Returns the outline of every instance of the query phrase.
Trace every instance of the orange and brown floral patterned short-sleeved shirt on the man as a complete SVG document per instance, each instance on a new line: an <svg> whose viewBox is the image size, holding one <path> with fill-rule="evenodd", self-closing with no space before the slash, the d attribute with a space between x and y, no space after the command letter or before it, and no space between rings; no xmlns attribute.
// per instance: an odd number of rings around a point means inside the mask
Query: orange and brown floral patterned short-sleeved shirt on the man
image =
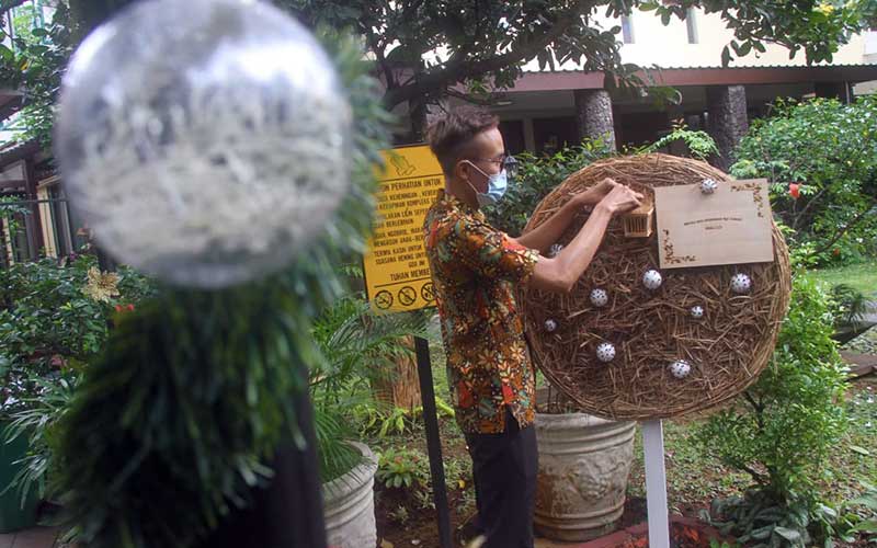
<svg viewBox="0 0 877 548"><path fill-rule="evenodd" d="M535 372L515 292L539 253L444 192L423 230L457 423L466 433L501 433L508 407L522 429L532 424Z"/></svg>

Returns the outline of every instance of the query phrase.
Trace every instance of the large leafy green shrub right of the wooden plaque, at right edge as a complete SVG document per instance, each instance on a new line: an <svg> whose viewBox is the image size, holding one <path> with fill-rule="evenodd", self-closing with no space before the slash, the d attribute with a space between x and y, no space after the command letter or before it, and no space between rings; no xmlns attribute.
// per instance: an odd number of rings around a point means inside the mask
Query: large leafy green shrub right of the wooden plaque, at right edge
<svg viewBox="0 0 877 548"><path fill-rule="evenodd" d="M848 105L777 102L771 117L752 123L737 158L731 174L768 179L790 243L812 263L850 263L877 252L877 96Z"/></svg>

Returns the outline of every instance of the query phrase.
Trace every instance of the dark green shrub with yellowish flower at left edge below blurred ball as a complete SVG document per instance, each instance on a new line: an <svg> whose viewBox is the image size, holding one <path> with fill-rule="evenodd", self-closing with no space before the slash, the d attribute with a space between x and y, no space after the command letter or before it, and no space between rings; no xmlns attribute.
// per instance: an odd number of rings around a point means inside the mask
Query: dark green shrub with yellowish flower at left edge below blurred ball
<svg viewBox="0 0 877 548"><path fill-rule="evenodd" d="M33 404L36 379L81 369L102 350L114 318L152 292L127 267L102 275L93 255L0 269L0 416Z"/></svg>

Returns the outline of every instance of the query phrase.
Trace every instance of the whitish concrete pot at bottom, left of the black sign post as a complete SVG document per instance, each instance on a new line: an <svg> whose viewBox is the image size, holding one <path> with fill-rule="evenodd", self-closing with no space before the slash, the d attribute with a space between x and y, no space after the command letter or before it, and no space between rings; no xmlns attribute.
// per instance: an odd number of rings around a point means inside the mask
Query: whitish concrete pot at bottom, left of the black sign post
<svg viewBox="0 0 877 548"><path fill-rule="evenodd" d="M377 545L375 526L375 472L377 458L372 450L351 442L364 461L344 476L322 484L326 537L332 548L362 548Z"/></svg>

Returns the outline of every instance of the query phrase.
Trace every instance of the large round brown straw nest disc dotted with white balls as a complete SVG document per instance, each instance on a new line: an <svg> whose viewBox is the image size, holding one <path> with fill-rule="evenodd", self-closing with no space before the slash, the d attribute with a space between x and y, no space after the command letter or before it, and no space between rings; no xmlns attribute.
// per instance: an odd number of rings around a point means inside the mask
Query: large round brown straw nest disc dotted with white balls
<svg viewBox="0 0 877 548"><path fill-rule="evenodd" d="M604 178L648 193L657 186L719 184L731 178L707 163L667 155L618 157L570 175L543 199L524 229L532 230L571 195ZM559 243L567 244L586 220L578 217ZM619 218L608 227L596 256L568 295L531 289L523 296L533 357L546 378L584 412L611 419L660 419L703 411L740 393L766 366L788 306L788 250L774 225L774 262L696 269L659 269L657 233L625 238ZM717 242L718 243L718 242ZM658 290L642 274L659 270ZM731 292L731 277L745 273L749 294ZM591 290L610 302L596 308ZM706 313L696 320L695 305ZM546 329L554 320L555 331ZM615 359L602 363L596 346L611 342ZM685 359L691 374L675 378L670 364Z"/></svg>

